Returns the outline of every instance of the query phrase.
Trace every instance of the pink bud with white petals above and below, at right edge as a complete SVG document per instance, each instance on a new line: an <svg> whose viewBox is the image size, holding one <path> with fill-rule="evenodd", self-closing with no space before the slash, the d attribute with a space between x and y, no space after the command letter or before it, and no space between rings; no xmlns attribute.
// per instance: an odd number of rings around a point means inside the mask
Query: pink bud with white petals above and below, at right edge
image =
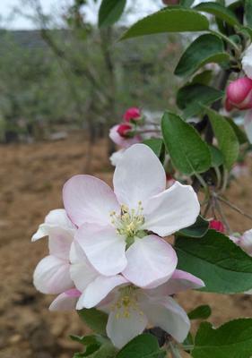
<svg viewBox="0 0 252 358"><path fill-rule="evenodd" d="M252 142L252 45L245 51L241 63L246 76L230 82L227 88L225 107L228 112L234 108L248 110L244 119L244 127L248 140Z"/></svg>

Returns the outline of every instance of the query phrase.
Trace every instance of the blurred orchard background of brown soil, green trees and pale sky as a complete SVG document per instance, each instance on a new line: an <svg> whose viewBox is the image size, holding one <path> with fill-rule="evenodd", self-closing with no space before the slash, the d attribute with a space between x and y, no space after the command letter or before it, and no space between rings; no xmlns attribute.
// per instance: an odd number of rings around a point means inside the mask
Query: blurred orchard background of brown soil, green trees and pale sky
<svg viewBox="0 0 252 358"><path fill-rule="evenodd" d="M30 243L72 175L110 183L109 128L127 107L153 118L176 106L173 74L192 35L159 35L118 42L126 27L161 8L161 0L129 1L113 28L98 29L100 1L1 0L0 3L0 357L67 358L78 350L70 333L85 328L73 313L48 311L50 297L32 286L47 239ZM249 163L245 164L248 173ZM252 184L241 175L231 201L252 209ZM245 231L251 223L227 211ZM210 300L209 300L210 298ZM213 302L213 322L251 311L250 296L192 294L189 310ZM248 313L251 315L251 312Z"/></svg>

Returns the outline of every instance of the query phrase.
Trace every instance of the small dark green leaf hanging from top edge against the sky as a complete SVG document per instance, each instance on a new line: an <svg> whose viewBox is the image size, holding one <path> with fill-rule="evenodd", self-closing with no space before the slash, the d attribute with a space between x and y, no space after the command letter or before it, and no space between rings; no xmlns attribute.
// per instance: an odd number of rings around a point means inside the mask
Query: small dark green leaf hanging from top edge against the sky
<svg viewBox="0 0 252 358"><path fill-rule="evenodd" d="M99 27L113 25L121 17L126 0L102 0L99 10Z"/></svg>

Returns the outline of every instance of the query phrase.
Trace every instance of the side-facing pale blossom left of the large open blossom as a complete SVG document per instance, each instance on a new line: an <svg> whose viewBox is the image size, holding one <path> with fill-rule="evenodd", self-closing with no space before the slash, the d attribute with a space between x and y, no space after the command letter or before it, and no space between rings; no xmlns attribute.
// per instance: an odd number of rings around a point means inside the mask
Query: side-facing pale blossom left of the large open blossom
<svg viewBox="0 0 252 358"><path fill-rule="evenodd" d="M76 228L64 209L49 212L32 236L32 242L48 236L49 255L39 261L33 275L34 286L43 294L62 294L72 289L69 252Z"/></svg>

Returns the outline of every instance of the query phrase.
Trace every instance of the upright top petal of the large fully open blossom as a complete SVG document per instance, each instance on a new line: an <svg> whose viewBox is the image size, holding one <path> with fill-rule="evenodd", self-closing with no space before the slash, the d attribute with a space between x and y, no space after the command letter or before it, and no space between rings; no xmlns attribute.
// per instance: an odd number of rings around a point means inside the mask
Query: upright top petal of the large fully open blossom
<svg viewBox="0 0 252 358"><path fill-rule="evenodd" d="M121 204L131 209L138 202L162 192L166 185L166 175L159 158L144 144L135 144L126 149L123 158L116 166L114 188Z"/></svg>

